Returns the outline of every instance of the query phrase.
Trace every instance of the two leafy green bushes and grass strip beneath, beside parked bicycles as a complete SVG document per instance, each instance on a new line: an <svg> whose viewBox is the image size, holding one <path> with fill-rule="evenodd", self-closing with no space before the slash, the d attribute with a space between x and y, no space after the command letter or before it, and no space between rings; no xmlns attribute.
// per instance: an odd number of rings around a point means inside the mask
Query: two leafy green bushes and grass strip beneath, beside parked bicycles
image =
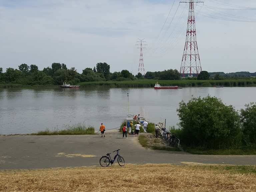
<svg viewBox="0 0 256 192"><path fill-rule="evenodd" d="M184 150L196 154L256 154L256 105L239 113L216 98L192 98L179 103L180 129L171 130Z"/></svg>

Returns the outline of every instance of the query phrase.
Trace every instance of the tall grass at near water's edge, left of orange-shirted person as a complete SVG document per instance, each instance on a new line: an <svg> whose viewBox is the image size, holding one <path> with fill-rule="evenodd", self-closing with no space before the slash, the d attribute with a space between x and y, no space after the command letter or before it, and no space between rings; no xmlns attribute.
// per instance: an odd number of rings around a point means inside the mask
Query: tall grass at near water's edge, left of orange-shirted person
<svg viewBox="0 0 256 192"><path fill-rule="evenodd" d="M56 129L53 130L46 129L45 131L39 131L32 135L93 135L95 134L94 127L86 127L80 123L75 125L66 125L65 129Z"/></svg>

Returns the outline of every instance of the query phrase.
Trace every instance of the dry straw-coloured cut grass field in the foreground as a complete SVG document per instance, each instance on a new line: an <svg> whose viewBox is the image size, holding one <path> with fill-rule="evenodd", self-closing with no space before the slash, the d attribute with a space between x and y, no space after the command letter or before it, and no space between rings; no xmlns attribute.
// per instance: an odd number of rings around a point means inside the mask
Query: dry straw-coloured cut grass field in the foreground
<svg viewBox="0 0 256 192"><path fill-rule="evenodd" d="M184 162L185 163L185 162ZM0 171L2 192L256 191L256 166L185 163Z"/></svg>

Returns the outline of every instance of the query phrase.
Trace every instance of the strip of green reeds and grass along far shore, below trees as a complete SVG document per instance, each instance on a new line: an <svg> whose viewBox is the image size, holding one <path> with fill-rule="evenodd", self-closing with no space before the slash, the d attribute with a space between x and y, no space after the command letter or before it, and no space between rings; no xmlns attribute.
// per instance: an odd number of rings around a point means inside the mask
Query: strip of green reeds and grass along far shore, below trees
<svg viewBox="0 0 256 192"><path fill-rule="evenodd" d="M105 86L111 88L136 88L154 87L158 82L162 86L179 87L212 87L214 85L225 87L256 87L256 79L225 79L225 80L149 80L141 79L134 81L97 81L81 82L80 87ZM22 84L0 84L0 88L27 88L27 87L58 87L58 85L22 85Z"/></svg>

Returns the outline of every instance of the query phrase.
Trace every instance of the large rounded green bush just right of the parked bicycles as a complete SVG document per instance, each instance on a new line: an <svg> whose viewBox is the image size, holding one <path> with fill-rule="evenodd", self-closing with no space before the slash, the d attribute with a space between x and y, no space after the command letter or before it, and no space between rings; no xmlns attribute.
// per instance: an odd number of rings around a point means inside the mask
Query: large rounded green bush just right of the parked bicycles
<svg viewBox="0 0 256 192"><path fill-rule="evenodd" d="M177 109L182 141L188 147L221 149L241 145L240 117L216 97L182 101Z"/></svg>

